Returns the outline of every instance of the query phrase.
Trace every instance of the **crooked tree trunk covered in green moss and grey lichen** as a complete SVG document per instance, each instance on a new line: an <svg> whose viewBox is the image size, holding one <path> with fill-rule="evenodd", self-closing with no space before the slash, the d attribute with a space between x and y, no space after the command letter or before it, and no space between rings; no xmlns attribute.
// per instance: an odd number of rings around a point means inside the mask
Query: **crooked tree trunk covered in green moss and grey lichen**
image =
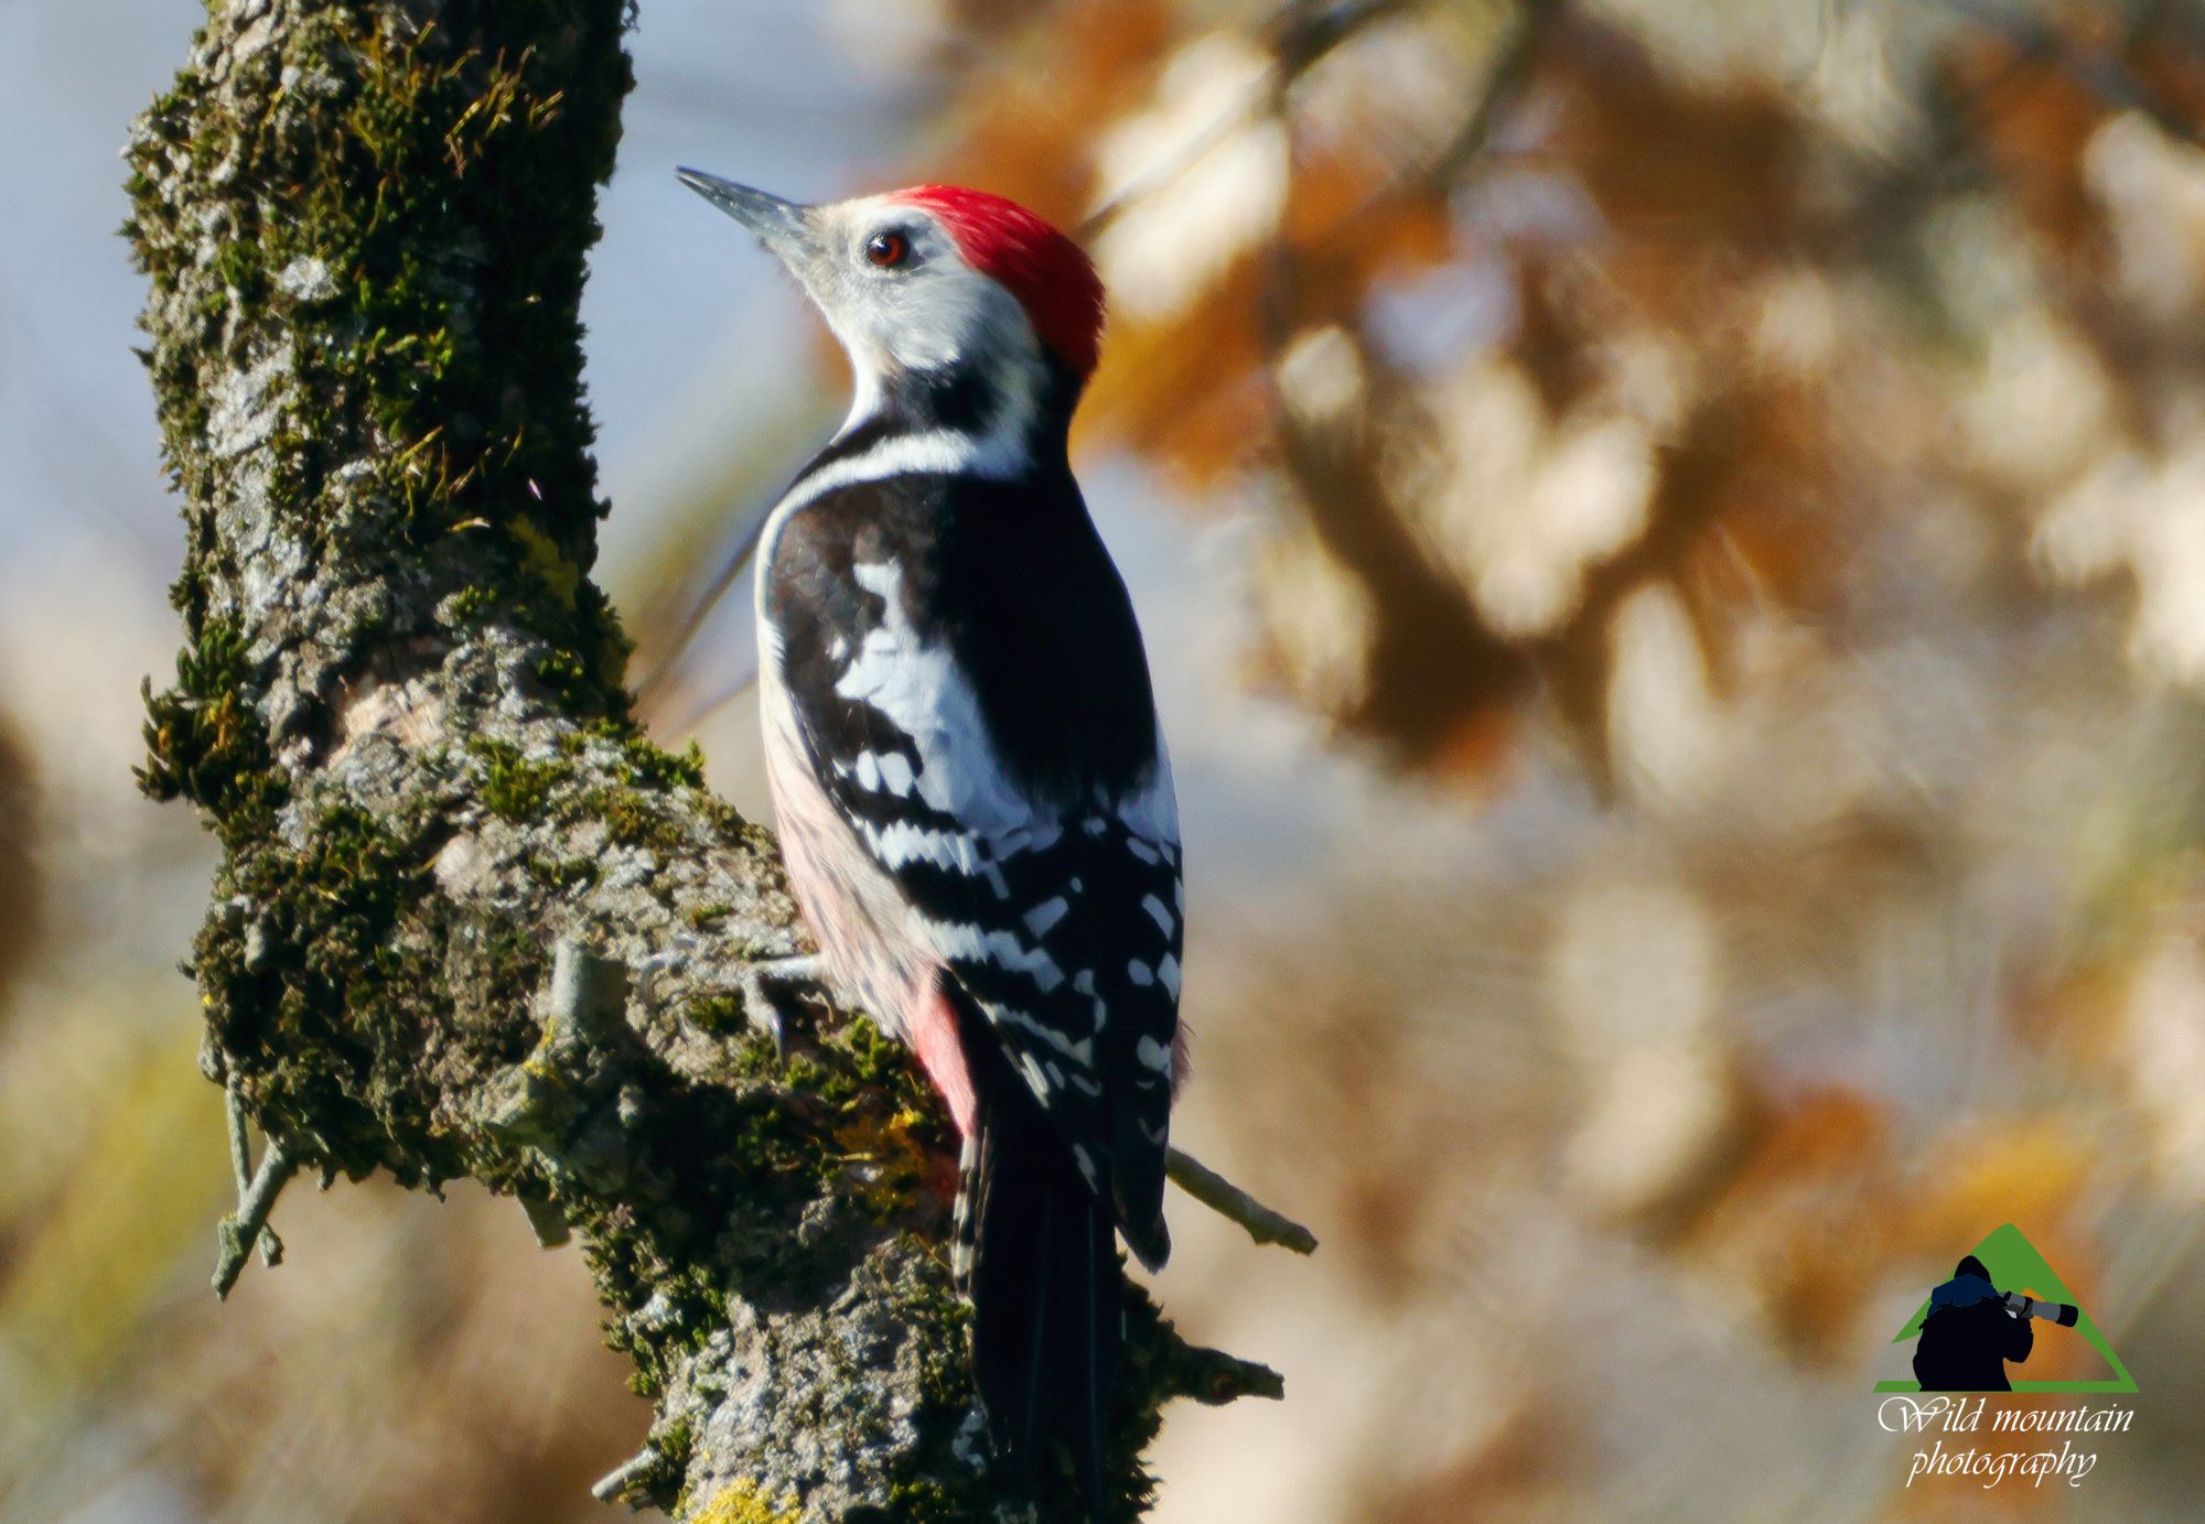
<svg viewBox="0 0 2205 1524"><path fill-rule="evenodd" d="M657 1398L631 1500L986 1517L942 1112L862 1017L745 1035L741 960L800 940L772 841L635 727L589 579L576 311L628 20L218 0L135 126L187 526L143 784L223 850L205 1068L324 1180L472 1176L582 1231ZM1116 1517L1166 1396L1274 1383L1129 1319Z"/></svg>

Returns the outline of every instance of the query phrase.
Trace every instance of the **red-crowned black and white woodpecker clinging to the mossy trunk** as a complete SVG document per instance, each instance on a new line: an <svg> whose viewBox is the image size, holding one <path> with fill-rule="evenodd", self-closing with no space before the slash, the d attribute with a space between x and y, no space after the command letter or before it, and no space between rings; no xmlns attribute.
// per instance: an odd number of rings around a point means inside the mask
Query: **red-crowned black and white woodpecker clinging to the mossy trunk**
<svg viewBox="0 0 2205 1524"><path fill-rule="evenodd" d="M1100 1520L1116 1240L1151 1271L1171 1253L1186 910L1149 661L1065 449L1102 282L986 192L798 205L679 174L856 374L759 535L781 848L827 976L964 1139L957 1273L1012 1487L1061 1443Z"/></svg>

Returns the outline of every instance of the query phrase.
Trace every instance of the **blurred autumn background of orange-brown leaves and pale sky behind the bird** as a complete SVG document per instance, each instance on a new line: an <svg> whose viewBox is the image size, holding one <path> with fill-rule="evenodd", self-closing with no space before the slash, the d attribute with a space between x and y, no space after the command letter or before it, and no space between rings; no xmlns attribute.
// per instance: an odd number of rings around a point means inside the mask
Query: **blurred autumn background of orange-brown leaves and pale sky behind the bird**
<svg viewBox="0 0 2205 1524"><path fill-rule="evenodd" d="M112 238L192 24L0 0L0 1517L613 1517L646 1412L512 1202L293 1191L207 1293ZM633 48L600 570L745 810L747 584L670 654L845 379L673 165L983 185L1114 291L1076 447L1180 773L1180 1136L1323 1238L1177 1202L1160 1295L1290 1398L1177 1409L1158 1520L2196 1517L2205 7L644 0ZM2009 1220L2134 1429L1910 1491L1870 1387Z"/></svg>

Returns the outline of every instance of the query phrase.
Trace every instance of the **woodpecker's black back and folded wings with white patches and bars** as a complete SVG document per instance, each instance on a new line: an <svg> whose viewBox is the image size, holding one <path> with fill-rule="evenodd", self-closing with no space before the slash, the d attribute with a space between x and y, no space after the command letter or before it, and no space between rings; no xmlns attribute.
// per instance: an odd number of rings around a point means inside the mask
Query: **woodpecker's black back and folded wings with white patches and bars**
<svg viewBox="0 0 2205 1524"><path fill-rule="evenodd" d="M1177 813L1069 471L822 493L763 601L811 766L1144 1262L1169 1249Z"/></svg>

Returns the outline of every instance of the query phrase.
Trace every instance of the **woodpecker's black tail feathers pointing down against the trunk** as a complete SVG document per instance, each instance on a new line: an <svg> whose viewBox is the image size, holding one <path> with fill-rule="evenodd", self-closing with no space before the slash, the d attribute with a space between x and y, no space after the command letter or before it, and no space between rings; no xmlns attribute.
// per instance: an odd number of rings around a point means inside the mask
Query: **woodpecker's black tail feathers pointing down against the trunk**
<svg viewBox="0 0 2205 1524"><path fill-rule="evenodd" d="M1023 1095L983 1106L968 1154L961 1255L972 1295L972 1374L1021 1500L1063 1445L1102 1524L1111 1392L1125 1295L1111 1209ZM966 1244L959 1244L966 1249Z"/></svg>

